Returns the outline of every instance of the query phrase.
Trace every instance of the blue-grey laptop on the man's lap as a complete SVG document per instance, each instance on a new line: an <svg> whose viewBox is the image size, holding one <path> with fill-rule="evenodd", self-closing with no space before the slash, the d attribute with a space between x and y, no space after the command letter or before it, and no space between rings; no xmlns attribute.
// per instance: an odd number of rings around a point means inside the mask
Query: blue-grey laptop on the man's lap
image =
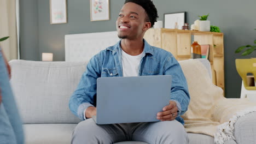
<svg viewBox="0 0 256 144"><path fill-rule="evenodd" d="M171 75L100 77L97 79L97 124L156 122L169 104Z"/></svg>

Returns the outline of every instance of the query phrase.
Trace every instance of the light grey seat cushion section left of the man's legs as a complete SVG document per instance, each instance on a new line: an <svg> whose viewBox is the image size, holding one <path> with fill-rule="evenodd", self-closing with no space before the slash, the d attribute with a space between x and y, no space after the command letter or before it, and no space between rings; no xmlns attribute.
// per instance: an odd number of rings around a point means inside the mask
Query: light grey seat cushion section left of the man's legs
<svg viewBox="0 0 256 144"><path fill-rule="evenodd" d="M24 124L26 144L69 144L77 124Z"/></svg>

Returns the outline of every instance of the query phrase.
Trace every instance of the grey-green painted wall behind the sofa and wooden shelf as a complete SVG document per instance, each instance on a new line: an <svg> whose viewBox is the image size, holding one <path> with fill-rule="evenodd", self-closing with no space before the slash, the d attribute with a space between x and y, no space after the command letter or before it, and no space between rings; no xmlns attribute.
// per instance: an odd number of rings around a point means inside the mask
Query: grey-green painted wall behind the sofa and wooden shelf
<svg viewBox="0 0 256 144"><path fill-rule="evenodd" d="M68 23L50 25L49 0L21 0L21 58L40 61L42 52L54 53L54 61L65 61L65 34L115 31L115 20L124 1L110 0L110 20L90 21L89 0L67 0ZM241 79L235 68L238 46L253 44L256 39L255 0L154 0L159 19L164 13L187 11L187 22L191 25L197 15L208 14L211 25L220 27L224 33L225 48L225 94L228 98L240 97ZM23 38L22 38L23 37ZM191 71L193 72L193 71Z"/></svg>

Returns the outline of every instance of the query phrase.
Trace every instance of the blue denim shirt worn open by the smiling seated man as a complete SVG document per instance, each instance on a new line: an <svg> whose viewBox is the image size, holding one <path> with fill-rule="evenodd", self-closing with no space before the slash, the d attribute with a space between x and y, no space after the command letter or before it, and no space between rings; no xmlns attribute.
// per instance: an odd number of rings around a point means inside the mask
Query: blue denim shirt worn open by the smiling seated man
<svg viewBox="0 0 256 144"><path fill-rule="evenodd" d="M190 96L181 66L170 52L143 41L143 57L138 75L172 75L170 100L179 105L179 116L176 120L184 124L180 116L188 110ZM120 44L121 40L90 59L77 89L69 100L69 109L81 120L84 120L84 110L88 106L96 107L97 78L123 76Z"/></svg>

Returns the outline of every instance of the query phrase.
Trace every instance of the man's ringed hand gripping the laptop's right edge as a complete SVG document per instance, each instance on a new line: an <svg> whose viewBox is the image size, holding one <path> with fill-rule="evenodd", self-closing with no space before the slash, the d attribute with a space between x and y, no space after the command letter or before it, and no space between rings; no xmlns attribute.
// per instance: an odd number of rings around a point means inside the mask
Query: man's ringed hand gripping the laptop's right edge
<svg viewBox="0 0 256 144"><path fill-rule="evenodd" d="M178 115L178 107L175 101L170 100L170 104L162 108L162 112L158 112L156 118L160 121L172 121Z"/></svg>

